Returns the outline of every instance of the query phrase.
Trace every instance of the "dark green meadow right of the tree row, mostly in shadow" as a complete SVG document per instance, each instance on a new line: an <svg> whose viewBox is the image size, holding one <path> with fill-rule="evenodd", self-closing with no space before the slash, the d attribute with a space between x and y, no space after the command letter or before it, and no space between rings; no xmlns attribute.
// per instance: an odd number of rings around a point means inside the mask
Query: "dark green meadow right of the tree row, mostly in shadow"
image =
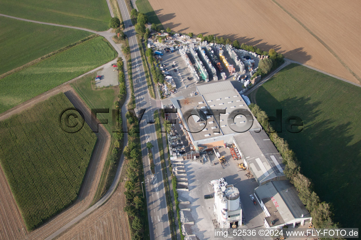
<svg viewBox="0 0 361 240"><path fill-rule="evenodd" d="M299 80L297 76L295 79L286 77L287 81L303 81L302 76ZM283 84L275 77L268 81L267 86ZM304 87L307 85L305 82ZM281 88L292 91L292 87L295 85L290 83ZM275 99L276 95L281 100ZM321 201L331 203L335 221L340 222L341 227L360 226L361 210L355 200L361 198L358 191L361 188L361 140L357 136L360 131L355 130L351 122L359 120L345 117L347 112L343 109L328 108L328 103L322 99L315 100L317 92L312 90L306 96L282 95L273 90L268 92L262 85L257 91L257 103L268 116L275 116L275 109L282 109L282 132L278 134L295 151L301 173L310 178ZM303 121L303 130L299 133L290 133L285 128L287 118L292 115ZM355 200L350 200L350 196Z"/></svg>

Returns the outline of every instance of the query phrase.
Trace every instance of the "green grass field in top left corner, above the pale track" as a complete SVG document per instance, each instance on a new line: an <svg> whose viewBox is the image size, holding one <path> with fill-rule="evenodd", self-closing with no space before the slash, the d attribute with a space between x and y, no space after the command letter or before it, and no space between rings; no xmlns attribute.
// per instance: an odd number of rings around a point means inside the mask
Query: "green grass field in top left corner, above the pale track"
<svg viewBox="0 0 361 240"><path fill-rule="evenodd" d="M95 31L107 30L111 18L106 0L2 0L0 9L0 13L14 17Z"/></svg>

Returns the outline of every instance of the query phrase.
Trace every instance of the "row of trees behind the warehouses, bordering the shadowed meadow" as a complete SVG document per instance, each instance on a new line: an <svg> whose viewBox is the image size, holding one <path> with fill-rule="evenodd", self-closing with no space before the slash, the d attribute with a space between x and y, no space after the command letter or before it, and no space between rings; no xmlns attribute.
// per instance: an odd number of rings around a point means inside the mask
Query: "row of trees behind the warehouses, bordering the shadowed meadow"
<svg viewBox="0 0 361 240"><path fill-rule="evenodd" d="M338 223L332 221L333 214L330 205L326 202L321 202L313 191L311 181L300 171L295 153L289 148L287 141L279 137L277 132L270 126L266 112L254 103L251 103L248 107L282 155L283 163L286 165L284 173L296 187L300 200L311 213L313 225L319 228L337 227Z"/></svg>

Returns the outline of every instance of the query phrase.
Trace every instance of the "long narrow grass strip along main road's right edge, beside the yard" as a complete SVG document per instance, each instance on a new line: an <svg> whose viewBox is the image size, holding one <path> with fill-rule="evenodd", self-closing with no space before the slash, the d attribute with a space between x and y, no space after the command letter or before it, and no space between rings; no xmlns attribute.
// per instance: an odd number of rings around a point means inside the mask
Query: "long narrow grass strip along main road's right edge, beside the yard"
<svg viewBox="0 0 361 240"><path fill-rule="evenodd" d="M163 182L164 182L164 190L165 190L164 192L165 192L165 199L167 202L170 235L171 235L171 239L173 240L173 239L176 239L173 204L172 204L172 199L171 199L171 195L170 195L167 168L166 168L165 159L164 159L164 149L163 149L163 140L162 140L162 132L161 132L162 128L161 128L161 124L160 124L158 110L156 110L154 112L153 117L154 117L154 124L155 124L155 128L156 128L160 163L161 163L162 173L163 173ZM169 165L171 165L171 164L169 163ZM173 191L174 191L174 187L173 187ZM177 188L175 188L175 191L177 192ZM174 198L175 198L175 195L174 195ZM175 198L175 200L177 200L177 198ZM180 218L178 218L178 219L180 219ZM182 229L182 228L179 228L179 229Z"/></svg>

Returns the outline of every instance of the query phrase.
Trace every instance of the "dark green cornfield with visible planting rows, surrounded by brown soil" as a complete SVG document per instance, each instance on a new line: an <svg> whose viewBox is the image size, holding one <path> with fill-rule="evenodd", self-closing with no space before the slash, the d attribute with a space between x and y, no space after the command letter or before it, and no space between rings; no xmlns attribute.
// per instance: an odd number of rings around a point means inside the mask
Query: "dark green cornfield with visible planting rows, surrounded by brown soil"
<svg viewBox="0 0 361 240"><path fill-rule="evenodd" d="M62 130L60 116L71 108L60 93L0 122L1 167L28 230L69 206L79 193L96 135L85 122L78 132ZM70 125L75 121L69 118Z"/></svg>

